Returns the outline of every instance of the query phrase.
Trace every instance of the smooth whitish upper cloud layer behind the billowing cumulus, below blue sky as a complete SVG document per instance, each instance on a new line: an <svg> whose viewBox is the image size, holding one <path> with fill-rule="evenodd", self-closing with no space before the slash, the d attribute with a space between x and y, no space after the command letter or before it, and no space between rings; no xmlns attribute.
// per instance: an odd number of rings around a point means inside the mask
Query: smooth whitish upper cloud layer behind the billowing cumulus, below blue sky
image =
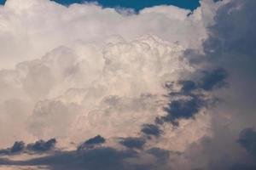
<svg viewBox="0 0 256 170"><path fill-rule="evenodd" d="M49 0L26 0L25 3L8 0L0 9L0 41L5 42L0 48L4 61L1 68L13 68L18 62L38 58L53 48L69 47L78 41L100 45L113 35L131 41L144 34L155 34L171 42L179 41L186 47L198 47L207 35L201 9L189 17L189 10L166 5L145 8L139 14L128 16L122 14L125 12L95 3L66 7Z"/></svg>

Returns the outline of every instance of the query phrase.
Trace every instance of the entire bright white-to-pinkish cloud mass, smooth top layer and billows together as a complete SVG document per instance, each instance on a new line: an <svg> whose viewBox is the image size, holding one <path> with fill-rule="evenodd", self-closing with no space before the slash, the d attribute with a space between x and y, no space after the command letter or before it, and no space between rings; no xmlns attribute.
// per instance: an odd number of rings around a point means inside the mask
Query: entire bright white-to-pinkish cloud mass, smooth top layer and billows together
<svg viewBox="0 0 256 170"><path fill-rule="evenodd" d="M164 83L194 71L183 51L201 49L217 8L205 1L193 14L172 6L127 14L94 3L8 0L0 8L0 136L8 136L0 146L137 135L165 114ZM200 134L182 131L191 139L177 150L201 138L207 123L192 122Z"/></svg>

